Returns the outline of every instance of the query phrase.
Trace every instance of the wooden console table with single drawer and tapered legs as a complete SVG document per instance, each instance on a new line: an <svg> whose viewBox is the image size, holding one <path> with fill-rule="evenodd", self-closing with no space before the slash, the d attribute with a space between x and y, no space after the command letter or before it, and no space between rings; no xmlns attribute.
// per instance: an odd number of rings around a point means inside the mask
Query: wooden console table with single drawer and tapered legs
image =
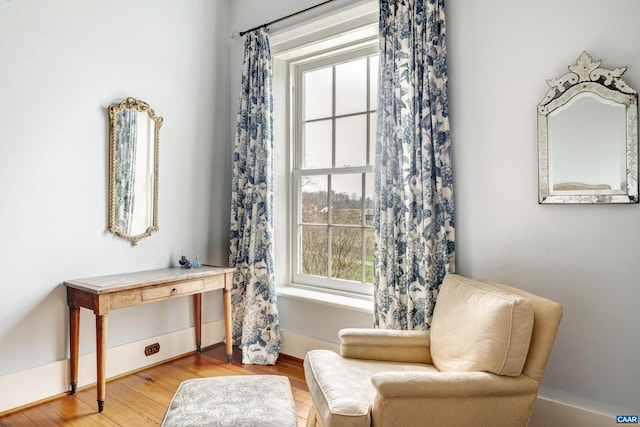
<svg viewBox="0 0 640 427"><path fill-rule="evenodd" d="M78 385L80 307L96 315L96 362L98 411L104 409L106 394L107 315L111 310L149 302L193 295L196 350L201 349L202 292L223 290L227 358L231 362L231 287L235 269L203 266L200 268L164 268L112 276L65 281L69 305L69 348L71 353L71 394Z"/></svg>

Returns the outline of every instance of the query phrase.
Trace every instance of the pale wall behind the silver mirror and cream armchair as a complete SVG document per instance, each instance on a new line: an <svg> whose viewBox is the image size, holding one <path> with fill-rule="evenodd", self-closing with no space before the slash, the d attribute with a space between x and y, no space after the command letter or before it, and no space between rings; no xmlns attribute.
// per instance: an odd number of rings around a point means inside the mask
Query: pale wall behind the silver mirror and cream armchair
<svg viewBox="0 0 640 427"><path fill-rule="evenodd" d="M536 106L582 51L640 89L634 0L447 0L457 270L561 302L541 394L640 411L640 206L537 204Z"/></svg>

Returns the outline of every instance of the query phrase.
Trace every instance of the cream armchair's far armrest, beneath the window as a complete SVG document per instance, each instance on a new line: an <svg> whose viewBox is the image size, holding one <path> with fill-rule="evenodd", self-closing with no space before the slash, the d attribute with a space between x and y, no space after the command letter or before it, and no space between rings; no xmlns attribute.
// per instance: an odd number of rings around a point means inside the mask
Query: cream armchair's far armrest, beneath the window
<svg viewBox="0 0 640 427"><path fill-rule="evenodd" d="M347 328L339 332L340 355L352 359L431 364L428 331Z"/></svg>

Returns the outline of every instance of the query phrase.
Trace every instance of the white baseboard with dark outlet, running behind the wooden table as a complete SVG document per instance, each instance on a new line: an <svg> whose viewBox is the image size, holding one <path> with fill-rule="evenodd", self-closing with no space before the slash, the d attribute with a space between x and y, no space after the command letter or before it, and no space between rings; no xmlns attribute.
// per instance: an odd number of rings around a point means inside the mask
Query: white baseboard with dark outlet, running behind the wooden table
<svg viewBox="0 0 640 427"><path fill-rule="evenodd" d="M224 341L224 321L202 325L202 346ZM160 344L160 352L144 355L144 348ZM194 351L194 328L182 329L165 335L147 338L107 349L107 379L145 366L154 365ZM82 348L80 349L82 352ZM81 354L78 360L78 387L96 382L96 353ZM69 391L69 360L0 376L0 414L33 402L48 399ZM107 396L109 386L107 385Z"/></svg>

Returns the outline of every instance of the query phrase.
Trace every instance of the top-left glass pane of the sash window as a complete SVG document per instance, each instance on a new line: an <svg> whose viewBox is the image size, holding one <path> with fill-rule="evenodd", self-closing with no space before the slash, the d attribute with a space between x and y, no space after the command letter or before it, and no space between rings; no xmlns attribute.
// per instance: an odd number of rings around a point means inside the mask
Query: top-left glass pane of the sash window
<svg viewBox="0 0 640 427"><path fill-rule="evenodd" d="M304 74L304 120L331 116L332 82L331 67Z"/></svg>

